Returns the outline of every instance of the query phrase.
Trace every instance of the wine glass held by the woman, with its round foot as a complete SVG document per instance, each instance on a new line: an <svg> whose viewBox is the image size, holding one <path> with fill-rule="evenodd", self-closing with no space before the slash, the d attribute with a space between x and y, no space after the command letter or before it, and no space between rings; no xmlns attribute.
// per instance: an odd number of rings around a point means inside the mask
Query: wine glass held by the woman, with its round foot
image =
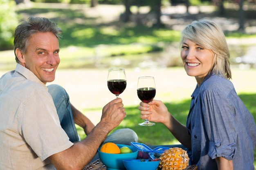
<svg viewBox="0 0 256 170"><path fill-rule="evenodd" d="M145 76L139 77L137 84L137 94L139 99L148 103L151 102L155 97L155 79L154 77ZM145 119L143 123L139 123L140 126L153 126L155 123L148 121L148 118Z"/></svg>

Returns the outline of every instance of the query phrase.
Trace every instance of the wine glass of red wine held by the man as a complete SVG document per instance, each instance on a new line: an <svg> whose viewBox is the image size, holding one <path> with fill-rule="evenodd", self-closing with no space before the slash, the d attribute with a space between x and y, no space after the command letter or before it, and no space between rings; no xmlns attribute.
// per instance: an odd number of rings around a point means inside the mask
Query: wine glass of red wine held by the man
<svg viewBox="0 0 256 170"><path fill-rule="evenodd" d="M124 68L108 69L108 89L111 93L118 96L123 93L126 88L126 74Z"/></svg>

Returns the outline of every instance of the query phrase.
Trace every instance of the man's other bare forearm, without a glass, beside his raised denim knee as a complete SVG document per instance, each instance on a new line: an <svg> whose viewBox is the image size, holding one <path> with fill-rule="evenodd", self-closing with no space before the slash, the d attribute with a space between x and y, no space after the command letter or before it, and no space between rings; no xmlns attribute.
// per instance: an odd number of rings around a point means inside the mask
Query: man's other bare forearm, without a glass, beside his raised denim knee
<svg viewBox="0 0 256 170"><path fill-rule="evenodd" d="M72 104L70 104L70 106L73 113L75 124L81 126L85 134L89 135L89 133L95 127L94 124L92 123L92 121L90 121L90 119L88 119L88 117L83 115L83 113L77 110Z"/></svg>

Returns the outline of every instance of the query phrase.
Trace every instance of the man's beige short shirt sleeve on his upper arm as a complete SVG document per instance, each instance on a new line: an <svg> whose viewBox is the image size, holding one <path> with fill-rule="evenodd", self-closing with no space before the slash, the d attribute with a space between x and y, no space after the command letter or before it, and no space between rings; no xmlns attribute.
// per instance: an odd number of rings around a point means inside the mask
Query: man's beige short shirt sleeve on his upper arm
<svg viewBox="0 0 256 170"><path fill-rule="evenodd" d="M21 107L23 112L19 118L20 133L42 161L73 145L61 128L49 93L40 91L23 102Z"/></svg>

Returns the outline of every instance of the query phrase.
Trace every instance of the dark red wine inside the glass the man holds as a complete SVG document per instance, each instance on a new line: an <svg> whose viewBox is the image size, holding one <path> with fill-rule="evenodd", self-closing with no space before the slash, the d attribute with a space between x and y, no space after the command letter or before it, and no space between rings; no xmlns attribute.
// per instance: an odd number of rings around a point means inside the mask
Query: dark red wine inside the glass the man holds
<svg viewBox="0 0 256 170"><path fill-rule="evenodd" d="M125 79L111 79L108 80L108 89L115 95L120 95L126 88Z"/></svg>

